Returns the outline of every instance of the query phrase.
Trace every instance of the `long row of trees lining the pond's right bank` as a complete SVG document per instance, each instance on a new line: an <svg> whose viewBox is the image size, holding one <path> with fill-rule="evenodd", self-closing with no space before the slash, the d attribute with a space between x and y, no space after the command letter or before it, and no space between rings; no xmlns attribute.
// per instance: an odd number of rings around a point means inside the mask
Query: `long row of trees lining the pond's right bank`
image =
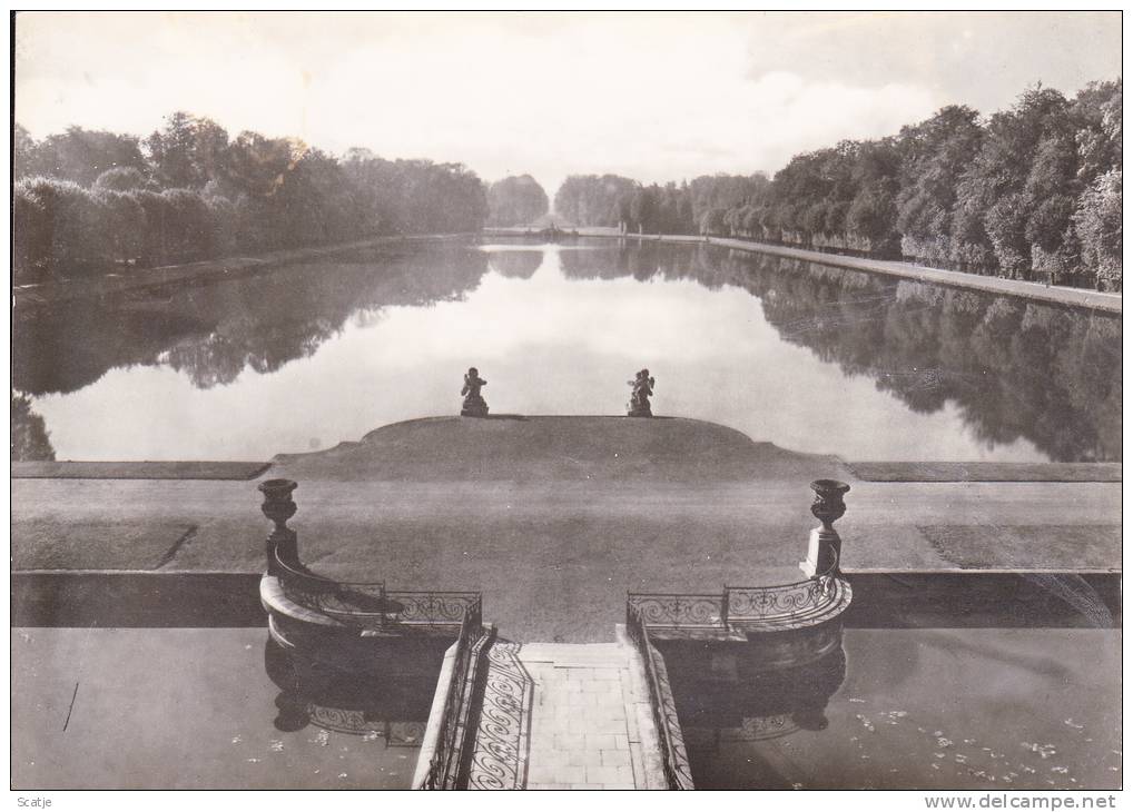
<svg viewBox="0 0 1133 812"><path fill-rule="evenodd" d="M1122 82L1073 99L1036 86L986 120L949 105L895 136L795 155L772 180L573 176L555 211L579 225L1121 290Z"/></svg>

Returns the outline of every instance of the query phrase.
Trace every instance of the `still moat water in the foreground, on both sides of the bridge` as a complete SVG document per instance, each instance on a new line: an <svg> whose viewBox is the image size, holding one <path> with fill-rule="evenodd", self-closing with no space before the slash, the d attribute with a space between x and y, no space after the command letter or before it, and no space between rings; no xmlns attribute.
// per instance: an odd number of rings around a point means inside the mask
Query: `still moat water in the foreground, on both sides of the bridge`
<svg viewBox="0 0 1133 812"><path fill-rule="evenodd" d="M367 674L297 667L266 638L14 629L12 786L409 788L443 644ZM850 629L834 643L776 668L747 646L665 647L698 788L1122 786L1117 630Z"/></svg>

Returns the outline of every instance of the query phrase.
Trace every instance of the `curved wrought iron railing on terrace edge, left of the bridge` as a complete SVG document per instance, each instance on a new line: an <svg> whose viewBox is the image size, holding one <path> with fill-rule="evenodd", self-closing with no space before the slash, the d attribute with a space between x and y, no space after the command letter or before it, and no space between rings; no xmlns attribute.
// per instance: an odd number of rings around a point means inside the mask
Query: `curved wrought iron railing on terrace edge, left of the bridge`
<svg viewBox="0 0 1133 812"><path fill-rule="evenodd" d="M469 614L480 613L479 592L390 591L383 581L335 581L283 561L278 553L275 565L288 600L350 626L455 629Z"/></svg>

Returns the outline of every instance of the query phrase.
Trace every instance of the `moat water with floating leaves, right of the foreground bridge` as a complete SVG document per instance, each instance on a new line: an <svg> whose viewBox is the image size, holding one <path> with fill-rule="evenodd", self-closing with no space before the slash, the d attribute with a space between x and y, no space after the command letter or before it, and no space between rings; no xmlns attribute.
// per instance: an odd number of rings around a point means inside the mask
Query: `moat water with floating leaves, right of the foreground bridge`
<svg viewBox="0 0 1133 812"><path fill-rule="evenodd" d="M770 665L658 648L698 789L1122 786L1116 630L847 629Z"/></svg>

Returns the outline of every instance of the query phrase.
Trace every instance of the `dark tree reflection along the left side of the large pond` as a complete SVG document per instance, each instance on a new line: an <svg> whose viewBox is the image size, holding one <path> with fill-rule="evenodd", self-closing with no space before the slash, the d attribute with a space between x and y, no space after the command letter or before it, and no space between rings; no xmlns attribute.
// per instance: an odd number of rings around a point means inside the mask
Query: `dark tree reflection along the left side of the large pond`
<svg viewBox="0 0 1133 812"><path fill-rule="evenodd" d="M33 395L73 392L108 370L167 362L201 388L271 373L315 352L355 313L459 298L487 272L462 246L369 250L257 276L16 311L12 377Z"/></svg>

